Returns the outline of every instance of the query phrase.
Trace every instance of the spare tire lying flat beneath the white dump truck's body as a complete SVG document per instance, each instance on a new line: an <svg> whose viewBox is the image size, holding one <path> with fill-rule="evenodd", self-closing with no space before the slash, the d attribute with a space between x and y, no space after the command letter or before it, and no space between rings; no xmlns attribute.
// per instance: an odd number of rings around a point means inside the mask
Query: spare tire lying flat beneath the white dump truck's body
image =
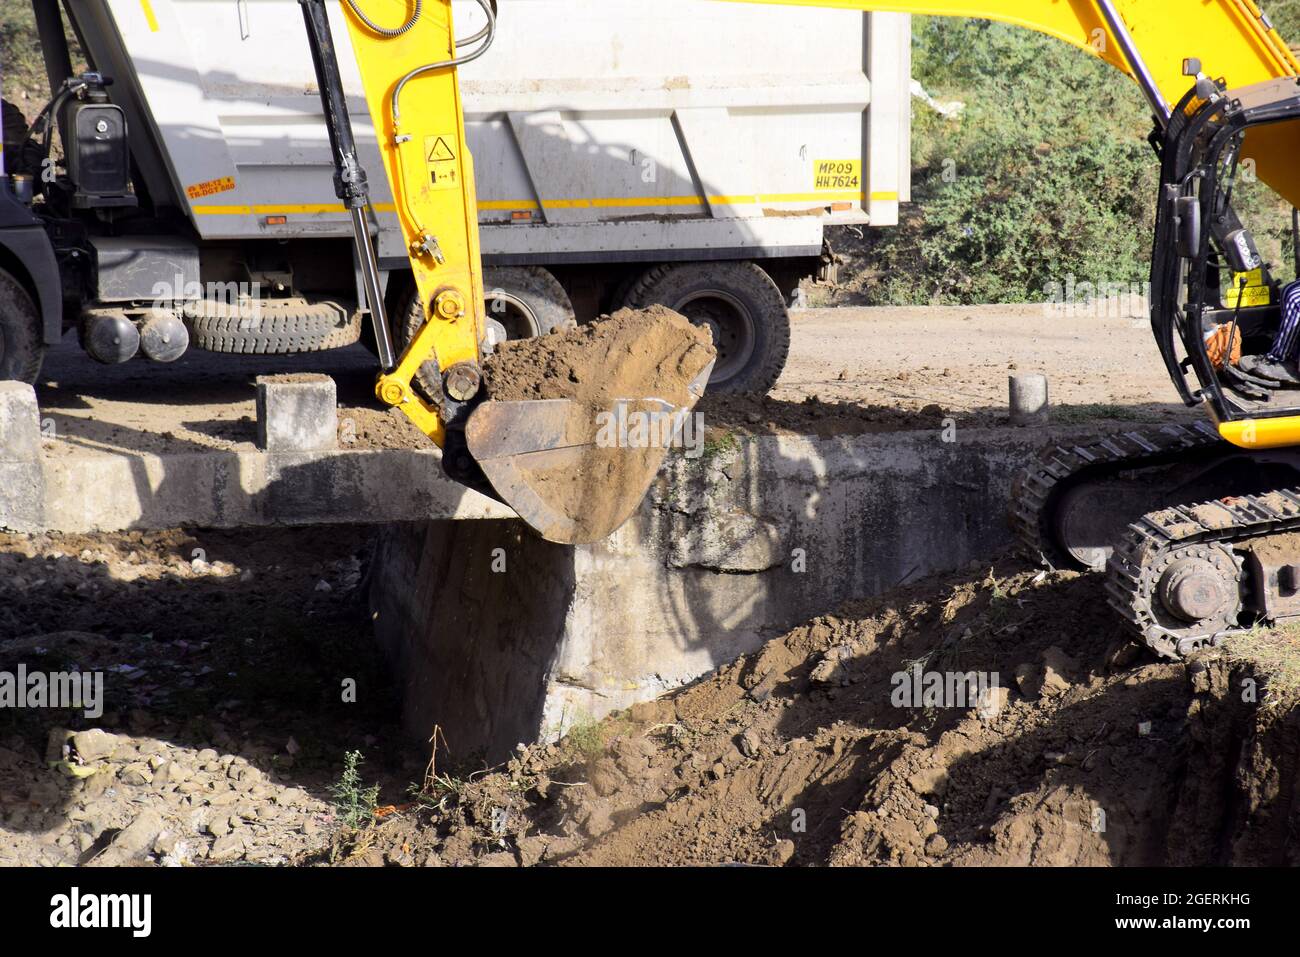
<svg viewBox="0 0 1300 957"><path fill-rule="evenodd" d="M351 346L361 337L361 313L342 299L302 298L229 304L187 303L182 317L191 345L209 352L290 355Z"/></svg>

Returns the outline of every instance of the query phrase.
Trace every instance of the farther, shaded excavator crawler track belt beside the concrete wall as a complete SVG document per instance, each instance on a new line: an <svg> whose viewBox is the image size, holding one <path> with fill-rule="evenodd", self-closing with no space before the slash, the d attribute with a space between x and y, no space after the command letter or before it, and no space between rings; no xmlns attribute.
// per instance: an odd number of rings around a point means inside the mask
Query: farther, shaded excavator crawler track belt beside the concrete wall
<svg viewBox="0 0 1300 957"><path fill-rule="evenodd" d="M1087 480L1173 463L1216 447L1230 446L1205 421L1135 429L1083 445L1048 446L1011 485L1010 524L1020 551L1031 562L1052 568L1080 567L1057 536L1053 505L1062 493Z"/></svg>

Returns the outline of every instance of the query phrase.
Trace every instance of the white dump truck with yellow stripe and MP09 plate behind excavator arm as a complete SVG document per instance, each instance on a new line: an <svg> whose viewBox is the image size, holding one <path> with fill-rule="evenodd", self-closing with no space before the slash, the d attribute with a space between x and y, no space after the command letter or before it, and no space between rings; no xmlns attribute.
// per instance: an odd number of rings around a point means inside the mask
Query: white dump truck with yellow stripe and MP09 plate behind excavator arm
<svg viewBox="0 0 1300 957"><path fill-rule="evenodd" d="M51 103L6 107L0 374L32 378L70 326L100 361L368 341L299 4L31 3ZM456 14L471 39L478 5ZM893 225L907 199L909 17L707 0L500 0L498 14L491 49L460 69L491 315L529 335L663 303L711 329L711 387L770 389L800 281L833 268L826 228ZM342 5L330 16L346 36ZM90 73L73 72L65 26ZM447 144L428 146L433 170ZM400 316L407 251L372 185Z"/></svg>

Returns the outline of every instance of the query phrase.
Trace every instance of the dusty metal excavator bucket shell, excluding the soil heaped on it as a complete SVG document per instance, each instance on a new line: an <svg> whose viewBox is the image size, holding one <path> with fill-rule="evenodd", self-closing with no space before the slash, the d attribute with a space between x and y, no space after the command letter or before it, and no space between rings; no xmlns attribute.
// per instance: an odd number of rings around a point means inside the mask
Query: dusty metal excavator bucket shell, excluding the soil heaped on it
<svg viewBox="0 0 1300 957"><path fill-rule="evenodd" d="M637 510L679 443L712 372L710 358L684 402L619 398L489 400L465 425L469 454L500 499L547 541L604 538ZM653 387L653 386L651 386ZM634 434L636 433L636 434Z"/></svg>

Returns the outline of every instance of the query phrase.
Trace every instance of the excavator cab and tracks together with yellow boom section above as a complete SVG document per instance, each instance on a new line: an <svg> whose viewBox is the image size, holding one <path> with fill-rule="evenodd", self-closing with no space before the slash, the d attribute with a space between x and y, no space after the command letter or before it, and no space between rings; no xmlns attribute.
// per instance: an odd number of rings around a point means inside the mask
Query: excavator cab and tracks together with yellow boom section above
<svg viewBox="0 0 1300 957"><path fill-rule="evenodd" d="M1161 161L1152 332L1210 421L1044 450L1014 485L1011 524L1031 559L1104 571L1106 601L1162 655L1300 615L1300 393L1251 371L1269 368L1257 359L1275 348L1283 289L1234 204L1256 174L1300 204L1300 64L1268 16L1253 0L793 1L1000 20L1138 83ZM1300 278L1295 212L1292 242Z"/></svg>

